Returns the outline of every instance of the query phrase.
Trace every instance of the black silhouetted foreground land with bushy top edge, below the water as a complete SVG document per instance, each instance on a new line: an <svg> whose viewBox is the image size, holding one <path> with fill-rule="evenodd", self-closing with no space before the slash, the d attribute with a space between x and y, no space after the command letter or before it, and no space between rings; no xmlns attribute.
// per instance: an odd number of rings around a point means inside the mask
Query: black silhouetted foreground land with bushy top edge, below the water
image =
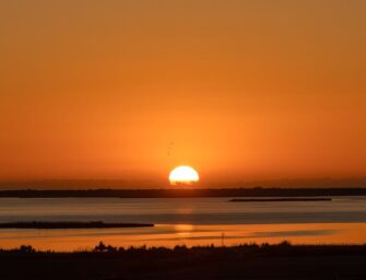
<svg viewBox="0 0 366 280"><path fill-rule="evenodd" d="M366 246L243 245L130 248L90 253L0 252L0 279L366 279Z"/></svg>

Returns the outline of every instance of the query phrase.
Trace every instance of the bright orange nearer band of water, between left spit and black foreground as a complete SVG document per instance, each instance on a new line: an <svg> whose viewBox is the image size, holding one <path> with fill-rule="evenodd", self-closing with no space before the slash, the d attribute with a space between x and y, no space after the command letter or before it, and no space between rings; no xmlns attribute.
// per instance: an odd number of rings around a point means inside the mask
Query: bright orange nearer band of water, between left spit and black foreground
<svg viewBox="0 0 366 280"><path fill-rule="evenodd" d="M113 246L238 245L290 241L293 244L364 244L366 223L157 224L149 229L1 230L2 248L29 244L37 249L92 249L103 241Z"/></svg>

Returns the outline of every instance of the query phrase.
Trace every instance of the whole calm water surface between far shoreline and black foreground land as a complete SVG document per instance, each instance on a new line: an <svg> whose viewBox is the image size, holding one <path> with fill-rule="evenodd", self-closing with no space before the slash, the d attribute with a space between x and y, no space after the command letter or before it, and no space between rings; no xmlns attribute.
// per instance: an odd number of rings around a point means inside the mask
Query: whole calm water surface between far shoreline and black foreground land
<svg viewBox="0 0 366 280"><path fill-rule="evenodd" d="M99 241L116 246L233 245L250 242L366 243L366 197L332 201L228 202L227 198L0 199L0 222L104 221L155 228L0 230L0 247L31 244L74 250Z"/></svg>

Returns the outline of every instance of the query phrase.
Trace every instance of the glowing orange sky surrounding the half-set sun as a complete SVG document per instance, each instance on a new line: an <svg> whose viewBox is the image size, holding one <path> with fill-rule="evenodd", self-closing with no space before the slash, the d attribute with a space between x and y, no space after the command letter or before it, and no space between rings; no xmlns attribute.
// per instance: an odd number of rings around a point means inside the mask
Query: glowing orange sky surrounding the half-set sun
<svg viewBox="0 0 366 280"><path fill-rule="evenodd" d="M365 11L0 1L0 180L365 177Z"/></svg>

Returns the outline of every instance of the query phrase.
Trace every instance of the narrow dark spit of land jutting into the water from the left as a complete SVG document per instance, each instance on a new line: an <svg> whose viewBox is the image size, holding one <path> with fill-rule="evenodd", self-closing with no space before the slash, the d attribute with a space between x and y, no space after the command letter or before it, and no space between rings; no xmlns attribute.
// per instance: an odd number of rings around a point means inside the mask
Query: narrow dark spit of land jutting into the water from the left
<svg viewBox="0 0 366 280"><path fill-rule="evenodd" d="M58 229L117 229L117 228L150 228L151 223L104 223L95 222L14 222L0 223L0 229L39 229L39 230L58 230Z"/></svg>

